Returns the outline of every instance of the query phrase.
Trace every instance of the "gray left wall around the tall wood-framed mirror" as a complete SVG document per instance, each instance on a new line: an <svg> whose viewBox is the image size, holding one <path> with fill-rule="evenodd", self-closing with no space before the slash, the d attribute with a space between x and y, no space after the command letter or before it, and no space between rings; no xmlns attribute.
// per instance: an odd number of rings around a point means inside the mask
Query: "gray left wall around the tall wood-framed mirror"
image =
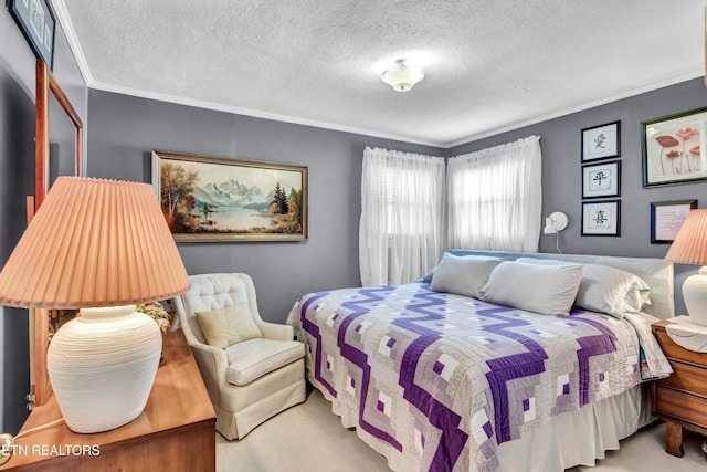
<svg viewBox="0 0 707 472"><path fill-rule="evenodd" d="M54 49L54 76L85 123L87 88L59 24ZM0 9L0 266L27 227L25 196L34 193L34 61ZM29 413L27 310L0 306L0 432L17 433Z"/></svg>

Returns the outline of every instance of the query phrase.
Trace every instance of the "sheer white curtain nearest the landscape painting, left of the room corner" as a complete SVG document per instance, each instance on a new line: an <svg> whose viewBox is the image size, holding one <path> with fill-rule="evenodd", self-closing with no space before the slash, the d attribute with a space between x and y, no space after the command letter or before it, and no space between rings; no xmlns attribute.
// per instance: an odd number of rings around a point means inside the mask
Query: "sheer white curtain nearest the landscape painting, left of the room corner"
<svg viewBox="0 0 707 472"><path fill-rule="evenodd" d="M402 284L442 256L444 158L363 151L359 263L363 286Z"/></svg>

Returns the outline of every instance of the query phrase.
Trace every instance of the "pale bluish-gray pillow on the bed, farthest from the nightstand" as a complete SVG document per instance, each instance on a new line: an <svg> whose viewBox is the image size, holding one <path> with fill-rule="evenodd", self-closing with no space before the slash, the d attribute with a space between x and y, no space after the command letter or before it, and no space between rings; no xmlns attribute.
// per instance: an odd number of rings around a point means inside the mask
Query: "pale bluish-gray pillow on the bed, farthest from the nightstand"
<svg viewBox="0 0 707 472"><path fill-rule="evenodd" d="M478 298L478 291L499 263L498 258L454 255L445 252L434 271L430 289Z"/></svg>

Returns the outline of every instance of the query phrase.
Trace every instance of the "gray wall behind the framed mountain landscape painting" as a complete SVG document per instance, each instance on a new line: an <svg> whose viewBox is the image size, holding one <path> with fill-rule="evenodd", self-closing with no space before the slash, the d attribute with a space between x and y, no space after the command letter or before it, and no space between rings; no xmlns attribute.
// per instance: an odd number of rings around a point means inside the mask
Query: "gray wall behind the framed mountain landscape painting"
<svg viewBox="0 0 707 472"><path fill-rule="evenodd" d="M358 221L366 146L442 156L426 146L91 91L92 177L151 181L151 149L308 167L305 242L179 243L190 274L245 272L264 319L283 323L305 293L360 285Z"/></svg>

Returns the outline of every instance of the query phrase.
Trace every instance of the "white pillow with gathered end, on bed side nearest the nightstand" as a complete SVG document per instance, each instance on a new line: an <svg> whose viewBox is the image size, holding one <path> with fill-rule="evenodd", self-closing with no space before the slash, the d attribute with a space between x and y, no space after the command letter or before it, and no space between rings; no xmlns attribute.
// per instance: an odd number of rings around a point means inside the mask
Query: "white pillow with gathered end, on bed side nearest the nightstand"
<svg viewBox="0 0 707 472"><path fill-rule="evenodd" d="M557 265L572 262L519 258L518 262ZM600 264L584 264L584 274L574 305L591 312L623 318L624 313L639 313L651 304L650 287L640 276L621 269Z"/></svg>

